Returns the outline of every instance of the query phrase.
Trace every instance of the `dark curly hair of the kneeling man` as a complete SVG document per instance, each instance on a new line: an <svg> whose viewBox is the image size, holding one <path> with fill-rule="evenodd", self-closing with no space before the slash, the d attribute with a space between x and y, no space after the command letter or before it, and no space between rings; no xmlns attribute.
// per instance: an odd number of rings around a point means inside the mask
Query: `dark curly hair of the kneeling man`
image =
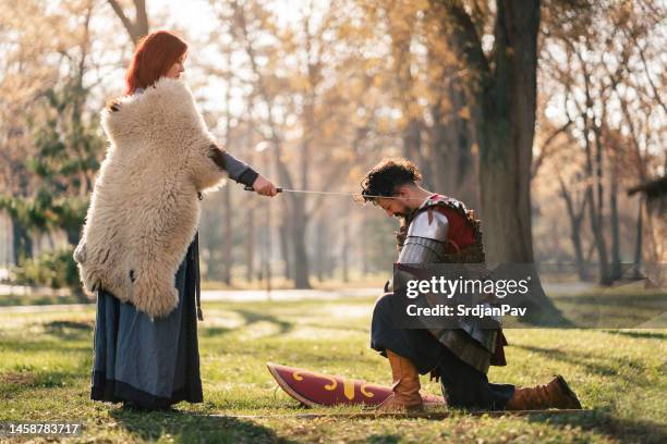
<svg viewBox="0 0 667 444"><path fill-rule="evenodd" d="M362 180L361 196L364 201L376 202L371 196L396 196L400 186L422 180L422 173L414 163L403 158L384 159L366 173Z"/></svg>

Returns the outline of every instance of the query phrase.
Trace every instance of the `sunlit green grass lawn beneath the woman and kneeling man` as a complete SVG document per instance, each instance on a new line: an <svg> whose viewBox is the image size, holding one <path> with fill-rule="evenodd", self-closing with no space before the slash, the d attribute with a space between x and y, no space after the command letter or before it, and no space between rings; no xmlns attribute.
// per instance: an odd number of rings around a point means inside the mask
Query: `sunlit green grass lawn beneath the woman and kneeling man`
<svg viewBox="0 0 667 444"><path fill-rule="evenodd" d="M507 330L509 366L492 368L489 379L527 385L562 373L591 409L575 415L230 417L330 411L304 409L277 388L266 361L388 384L388 363L368 348L372 305L206 304L199 324L204 404L149 414L88 399L92 309L0 312L0 421L83 422L75 442L667 442L665 330ZM422 385L439 393L426 377Z"/></svg>

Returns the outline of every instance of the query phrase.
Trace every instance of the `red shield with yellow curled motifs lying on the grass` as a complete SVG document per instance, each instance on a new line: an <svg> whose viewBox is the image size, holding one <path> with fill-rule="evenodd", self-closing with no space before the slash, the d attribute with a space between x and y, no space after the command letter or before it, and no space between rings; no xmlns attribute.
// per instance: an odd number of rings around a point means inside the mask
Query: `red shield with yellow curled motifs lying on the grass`
<svg viewBox="0 0 667 444"><path fill-rule="evenodd" d="M288 395L308 407L336 405L376 406L392 392L390 386L317 373L311 370L267 362L269 372ZM422 393L424 405L445 405L442 396Z"/></svg>

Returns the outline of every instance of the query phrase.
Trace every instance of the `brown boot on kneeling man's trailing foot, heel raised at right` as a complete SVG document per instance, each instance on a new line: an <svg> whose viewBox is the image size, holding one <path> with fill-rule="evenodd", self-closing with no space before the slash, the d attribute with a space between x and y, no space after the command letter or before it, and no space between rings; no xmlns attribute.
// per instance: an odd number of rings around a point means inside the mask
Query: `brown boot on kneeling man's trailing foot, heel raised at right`
<svg viewBox="0 0 667 444"><path fill-rule="evenodd" d="M547 408L581 409L579 398L560 374L557 374L546 385L518 387L505 407L506 410L545 410Z"/></svg>

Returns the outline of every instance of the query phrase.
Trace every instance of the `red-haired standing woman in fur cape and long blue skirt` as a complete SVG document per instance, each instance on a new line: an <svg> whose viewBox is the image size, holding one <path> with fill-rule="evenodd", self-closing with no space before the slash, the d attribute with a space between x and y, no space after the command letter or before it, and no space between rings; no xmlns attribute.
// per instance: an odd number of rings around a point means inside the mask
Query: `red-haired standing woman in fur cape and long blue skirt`
<svg viewBox="0 0 667 444"><path fill-rule="evenodd" d="M126 95L102 112L110 148L74 257L97 296L90 397L144 408L202 402L197 223L202 193L226 171L258 194L269 181L219 149L179 81L187 46L146 36Z"/></svg>

